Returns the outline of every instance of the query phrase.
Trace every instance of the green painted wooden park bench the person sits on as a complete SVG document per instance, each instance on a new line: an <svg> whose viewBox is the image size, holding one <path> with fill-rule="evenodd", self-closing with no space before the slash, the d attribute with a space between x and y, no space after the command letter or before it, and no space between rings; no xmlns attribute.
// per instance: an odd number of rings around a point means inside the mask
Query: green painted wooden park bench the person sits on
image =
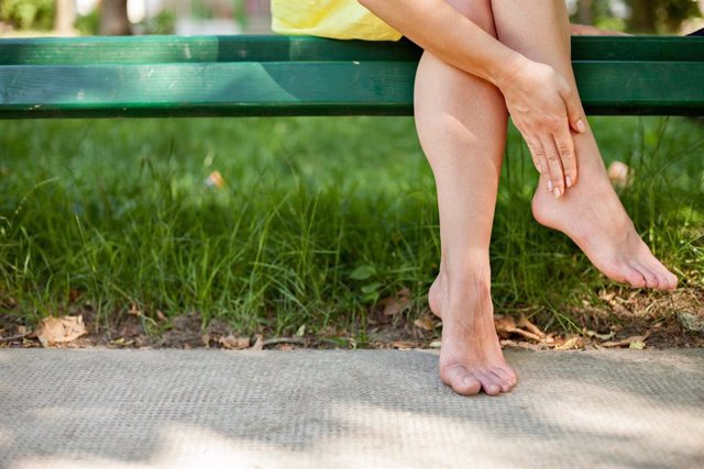
<svg viewBox="0 0 704 469"><path fill-rule="evenodd" d="M704 114L704 37L573 37L590 114ZM284 36L0 40L0 119L408 115L420 49Z"/></svg>

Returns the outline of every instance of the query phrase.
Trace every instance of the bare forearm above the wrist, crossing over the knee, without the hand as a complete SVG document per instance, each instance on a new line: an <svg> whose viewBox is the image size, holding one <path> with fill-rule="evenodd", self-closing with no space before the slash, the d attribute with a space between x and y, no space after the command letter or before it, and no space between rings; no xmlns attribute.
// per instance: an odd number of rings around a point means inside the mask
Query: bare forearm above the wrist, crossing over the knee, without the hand
<svg viewBox="0 0 704 469"><path fill-rule="evenodd" d="M360 0L360 3L424 49L494 85L526 59L443 0Z"/></svg>

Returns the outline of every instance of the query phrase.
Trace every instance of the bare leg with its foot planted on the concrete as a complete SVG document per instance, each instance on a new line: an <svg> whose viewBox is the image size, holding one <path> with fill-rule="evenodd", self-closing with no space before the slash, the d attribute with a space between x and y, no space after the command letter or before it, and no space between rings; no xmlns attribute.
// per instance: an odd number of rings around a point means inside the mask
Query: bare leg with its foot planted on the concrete
<svg viewBox="0 0 704 469"><path fill-rule="evenodd" d="M491 34L490 0L452 0ZM416 76L416 125L438 190L442 260L430 288L442 317L440 377L461 394L508 391L494 328L488 245L506 141L507 111L488 82L425 53Z"/></svg>

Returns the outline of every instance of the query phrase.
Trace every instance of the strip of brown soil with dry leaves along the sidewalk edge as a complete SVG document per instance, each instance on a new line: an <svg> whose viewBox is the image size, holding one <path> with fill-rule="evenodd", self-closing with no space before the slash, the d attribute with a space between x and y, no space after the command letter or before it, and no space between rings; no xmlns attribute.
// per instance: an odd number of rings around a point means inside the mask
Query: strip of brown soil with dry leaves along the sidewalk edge
<svg viewBox="0 0 704 469"><path fill-rule="evenodd" d="M367 314L366 334L328 328L276 337L268 331L242 336L220 320L202 327L199 313L166 317L146 314L132 306L111 315L108 324L97 322L89 303L79 295L65 311L81 315L87 334L55 344L65 348L437 348L441 323L429 310L411 314L414 301L408 290L380 301ZM8 301L2 309L12 312ZM682 288L672 293L614 289L603 291L598 301L583 301L569 312L576 327L554 326L554 314L525 310L524 314L497 315L496 326L505 347L530 349L588 348L692 348L704 347L704 289ZM41 347L32 330L18 315L0 316L0 348ZM414 319L411 319L411 316ZM691 321L684 321L688 316ZM694 323L692 322L694 321ZM696 331L698 326L702 331ZM689 328L689 330L688 330Z"/></svg>

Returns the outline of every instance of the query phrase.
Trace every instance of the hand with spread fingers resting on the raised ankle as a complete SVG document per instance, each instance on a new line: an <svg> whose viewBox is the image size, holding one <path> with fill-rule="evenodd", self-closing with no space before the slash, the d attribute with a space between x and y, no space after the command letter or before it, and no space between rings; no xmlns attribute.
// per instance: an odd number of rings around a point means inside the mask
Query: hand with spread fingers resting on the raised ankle
<svg viewBox="0 0 704 469"><path fill-rule="evenodd" d="M498 88L536 168L548 177L548 190L561 197L578 178L570 127L586 131L576 92L552 67L528 59L504 77Z"/></svg>

